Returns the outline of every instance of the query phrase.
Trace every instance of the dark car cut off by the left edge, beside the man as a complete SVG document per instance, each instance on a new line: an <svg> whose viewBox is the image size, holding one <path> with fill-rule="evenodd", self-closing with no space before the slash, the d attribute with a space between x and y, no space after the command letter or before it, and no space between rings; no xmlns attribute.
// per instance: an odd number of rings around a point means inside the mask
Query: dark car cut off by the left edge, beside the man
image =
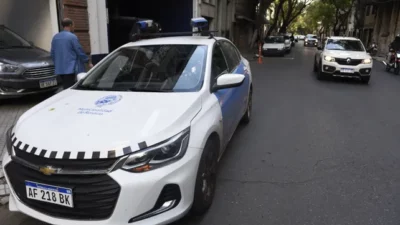
<svg viewBox="0 0 400 225"><path fill-rule="evenodd" d="M0 99L54 92L60 83L49 52L0 25Z"/></svg>

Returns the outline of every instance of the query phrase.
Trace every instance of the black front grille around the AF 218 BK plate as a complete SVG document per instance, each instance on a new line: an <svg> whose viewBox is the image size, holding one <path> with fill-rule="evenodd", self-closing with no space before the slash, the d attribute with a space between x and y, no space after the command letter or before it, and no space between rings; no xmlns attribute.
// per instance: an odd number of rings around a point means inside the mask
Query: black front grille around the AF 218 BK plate
<svg viewBox="0 0 400 225"><path fill-rule="evenodd" d="M28 207L49 216L75 220L104 220L117 204L120 186L107 174L46 176L11 161L5 171L17 197ZM25 181L71 188L74 208L28 199Z"/></svg>

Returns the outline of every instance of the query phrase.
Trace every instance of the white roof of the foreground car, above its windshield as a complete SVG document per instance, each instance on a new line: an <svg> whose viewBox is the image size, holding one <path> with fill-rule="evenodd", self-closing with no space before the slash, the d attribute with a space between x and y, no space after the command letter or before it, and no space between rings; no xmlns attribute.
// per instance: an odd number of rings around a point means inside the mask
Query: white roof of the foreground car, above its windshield
<svg viewBox="0 0 400 225"><path fill-rule="evenodd" d="M217 40L227 40L223 37L215 37ZM207 45L212 46L215 43L214 38L209 36L178 36L178 37L160 37L152 39L144 39L140 41L130 42L123 47L144 46L144 45ZM229 41L229 40L228 40Z"/></svg>

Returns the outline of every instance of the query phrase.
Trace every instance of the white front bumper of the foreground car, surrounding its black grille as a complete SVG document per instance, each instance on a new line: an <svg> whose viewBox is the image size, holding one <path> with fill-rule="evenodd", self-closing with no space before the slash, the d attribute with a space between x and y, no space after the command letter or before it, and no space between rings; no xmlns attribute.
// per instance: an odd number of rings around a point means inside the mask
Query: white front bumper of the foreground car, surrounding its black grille
<svg viewBox="0 0 400 225"><path fill-rule="evenodd" d="M201 149L189 147L186 155L181 160L154 171L136 174L117 170L109 173L107 176L118 183L120 192L112 215L104 220L76 220L49 216L45 212L39 212L29 207L18 198L15 188L10 182L13 174L7 173L6 168L8 164L14 161L6 153L3 159L3 169L12 193L9 208L10 211L20 211L38 220L60 225L168 224L183 217L192 205L195 179L201 153ZM137 218L154 209L162 190L166 185L170 184L178 185L180 190L180 201L175 208L153 217L129 223L131 219ZM49 185L52 184L50 183ZM68 210L68 208L65 210Z"/></svg>

